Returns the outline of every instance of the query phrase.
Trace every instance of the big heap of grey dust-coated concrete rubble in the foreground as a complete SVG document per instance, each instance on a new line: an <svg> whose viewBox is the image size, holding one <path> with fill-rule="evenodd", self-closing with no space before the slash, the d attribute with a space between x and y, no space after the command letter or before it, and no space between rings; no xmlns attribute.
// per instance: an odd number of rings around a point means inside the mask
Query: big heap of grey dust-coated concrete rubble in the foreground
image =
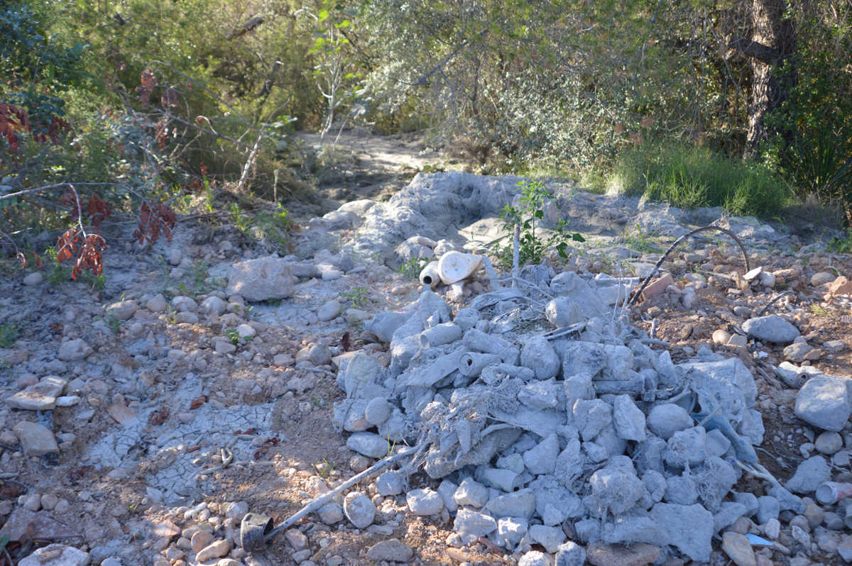
<svg viewBox="0 0 852 566"><path fill-rule="evenodd" d="M526 552L522 563L551 563L530 552L538 544L559 565L582 564L570 535L706 562L722 529L801 514L792 492L829 479L819 457L823 466L807 460L786 487L758 464L764 430L751 371L709 351L676 364L653 350L621 308L635 279L529 266L515 286L493 283L454 315L428 287L406 309L380 313L365 329L389 342L389 367L360 353L337 376L346 398L335 422L352 433L349 448L381 458L422 446L415 463L442 481L406 500L416 514L455 513L451 544L487 537ZM832 386L846 385L810 380L797 414L839 431L852 410L845 392L831 415L824 392L809 392ZM744 469L768 480L765 495L734 491ZM385 472L378 493L403 494L411 471Z"/></svg>

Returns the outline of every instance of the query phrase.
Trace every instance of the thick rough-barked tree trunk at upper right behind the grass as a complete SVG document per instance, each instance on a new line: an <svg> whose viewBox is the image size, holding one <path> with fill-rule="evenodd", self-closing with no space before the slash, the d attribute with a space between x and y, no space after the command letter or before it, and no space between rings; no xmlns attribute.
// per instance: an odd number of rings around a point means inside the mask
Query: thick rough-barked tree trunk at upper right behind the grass
<svg viewBox="0 0 852 566"><path fill-rule="evenodd" d="M793 22L786 17L786 0L752 0L751 39L734 39L730 46L738 49L751 63L751 105L749 107L746 157L754 157L757 148L773 132L767 131L764 118L785 100L796 80L788 69L779 76L774 66L780 65L796 49Z"/></svg>

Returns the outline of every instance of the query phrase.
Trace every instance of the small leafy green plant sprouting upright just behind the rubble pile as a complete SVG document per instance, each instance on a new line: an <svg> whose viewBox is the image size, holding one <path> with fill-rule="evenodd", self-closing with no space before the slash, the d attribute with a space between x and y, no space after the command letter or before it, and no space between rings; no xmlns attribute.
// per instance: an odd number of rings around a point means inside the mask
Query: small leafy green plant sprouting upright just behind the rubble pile
<svg viewBox="0 0 852 566"><path fill-rule="evenodd" d="M585 238L577 232L567 231L567 222L559 220L556 228L550 234L543 235L539 221L544 219L544 203L552 200L553 195L540 180L521 180L518 183L521 188L520 206L514 207L507 204L500 213L504 220L503 230L505 235L499 241L509 238L509 243L499 246L497 249L500 265L505 269L512 266L512 235L515 227L520 227L520 264L541 263L544 254L549 249L556 249L562 258L567 258L567 247L572 242L585 242ZM538 233L536 233L538 229Z"/></svg>

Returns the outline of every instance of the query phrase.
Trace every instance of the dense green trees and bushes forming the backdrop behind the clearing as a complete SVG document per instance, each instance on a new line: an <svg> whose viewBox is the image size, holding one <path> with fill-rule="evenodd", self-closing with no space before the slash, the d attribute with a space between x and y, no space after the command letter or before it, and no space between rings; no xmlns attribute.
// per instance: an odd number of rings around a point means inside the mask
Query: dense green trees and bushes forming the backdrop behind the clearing
<svg viewBox="0 0 852 566"><path fill-rule="evenodd" d="M120 180L138 204L242 186L249 160L277 195L288 132L362 120L463 140L492 172L700 146L852 220L842 0L12 0L0 31L0 176L20 187Z"/></svg>

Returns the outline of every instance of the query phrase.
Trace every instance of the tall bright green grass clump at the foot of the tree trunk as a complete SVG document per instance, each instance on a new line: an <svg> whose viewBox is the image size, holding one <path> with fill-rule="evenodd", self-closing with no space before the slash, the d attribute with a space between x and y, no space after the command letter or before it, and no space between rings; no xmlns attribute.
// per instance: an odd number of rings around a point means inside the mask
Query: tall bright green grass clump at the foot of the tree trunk
<svg viewBox="0 0 852 566"><path fill-rule="evenodd" d="M626 148L607 186L683 208L723 206L733 214L764 218L777 214L792 196L785 181L761 163L678 142Z"/></svg>

